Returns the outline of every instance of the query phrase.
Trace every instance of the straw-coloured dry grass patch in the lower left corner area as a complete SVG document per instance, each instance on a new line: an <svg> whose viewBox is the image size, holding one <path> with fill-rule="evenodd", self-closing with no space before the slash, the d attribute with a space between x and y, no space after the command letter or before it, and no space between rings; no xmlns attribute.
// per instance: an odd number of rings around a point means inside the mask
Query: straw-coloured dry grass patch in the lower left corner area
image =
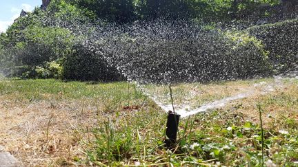
<svg viewBox="0 0 298 167"><path fill-rule="evenodd" d="M88 102L14 102L0 96L0 145L25 166L71 164L82 155L74 134L97 122L98 107ZM85 103L85 104L83 104Z"/></svg>

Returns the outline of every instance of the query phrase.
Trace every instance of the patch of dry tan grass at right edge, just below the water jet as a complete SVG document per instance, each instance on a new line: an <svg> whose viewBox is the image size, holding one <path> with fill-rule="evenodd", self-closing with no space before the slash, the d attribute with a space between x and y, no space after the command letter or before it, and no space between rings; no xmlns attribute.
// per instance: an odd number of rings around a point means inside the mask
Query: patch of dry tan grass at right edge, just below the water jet
<svg viewBox="0 0 298 167"><path fill-rule="evenodd" d="M285 83L276 87L275 91L262 93L256 91L253 96L231 102L224 109L232 109L235 113L244 115L250 122L259 124L259 111L257 104L261 104L264 126L276 126L285 118L298 121L298 84L297 82ZM235 109L237 106L237 109Z"/></svg>

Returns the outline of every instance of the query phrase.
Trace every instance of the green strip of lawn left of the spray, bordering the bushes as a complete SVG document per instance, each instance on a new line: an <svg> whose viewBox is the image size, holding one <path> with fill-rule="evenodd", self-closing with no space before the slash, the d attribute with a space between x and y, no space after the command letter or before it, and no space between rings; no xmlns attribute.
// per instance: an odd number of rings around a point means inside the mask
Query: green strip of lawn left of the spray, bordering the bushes
<svg viewBox="0 0 298 167"><path fill-rule="evenodd" d="M132 89L132 90L128 90ZM43 94L50 94L57 100L60 100L59 93L63 94L63 98L99 98L103 95L121 96L135 91L133 85L127 82L115 83L96 83L96 82L63 82L60 80L6 80L0 82L0 95L10 93L19 93L24 98L32 98L39 96L37 100L45 100ZM133 94L137 95L137 91Z"/></svg>

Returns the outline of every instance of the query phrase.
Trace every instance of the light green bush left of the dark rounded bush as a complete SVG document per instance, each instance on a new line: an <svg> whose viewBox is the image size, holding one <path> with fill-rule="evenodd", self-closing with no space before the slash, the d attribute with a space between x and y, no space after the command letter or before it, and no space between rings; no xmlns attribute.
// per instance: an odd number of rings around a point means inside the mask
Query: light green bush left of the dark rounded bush
<svg viewBox="0 0 298 167"><path fill-rule="evenodd" d="M60 27L29 26L20 34L21 40L6 48L4 63L10 65L7 69L10 76L59 78L59 69L55 69L59 67L54 63L70 52L74 39L70 31Z"/></svg>

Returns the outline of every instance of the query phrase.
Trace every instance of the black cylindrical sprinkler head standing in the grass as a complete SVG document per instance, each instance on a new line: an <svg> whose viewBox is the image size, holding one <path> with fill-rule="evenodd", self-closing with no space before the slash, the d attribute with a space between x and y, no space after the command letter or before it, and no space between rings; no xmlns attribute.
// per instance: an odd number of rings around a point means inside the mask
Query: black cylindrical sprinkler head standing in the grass
<svg viewBox="0 0 298 167"><path fill-rule="evenodd" d="M166 124L166 147L171 147L176 143L178 124L179 124L180 115L173 113L172 111L168 112L168 121Z"/></svg>

